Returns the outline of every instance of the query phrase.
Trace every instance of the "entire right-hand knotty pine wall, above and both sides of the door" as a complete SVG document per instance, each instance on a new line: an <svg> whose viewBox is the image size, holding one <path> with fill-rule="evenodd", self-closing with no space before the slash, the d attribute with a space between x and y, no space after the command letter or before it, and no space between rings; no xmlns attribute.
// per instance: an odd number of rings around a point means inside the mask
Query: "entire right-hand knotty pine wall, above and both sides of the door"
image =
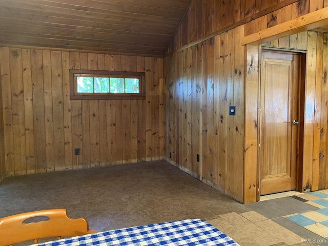
<svg viewBox="0 0 328 246"><path fill-rule="evenodd" d="M226 1L209 0L204 5L201 0L192 1L168 48L164 66L164 156L236 200L254 202L258 188L255 171L259 47L246 49L239 39L327 7L328 3L230 3L227 6ZM309 124L305 127L308 137L304 143L303 183L311 184L313 190L326 188L326 34L300 33L267 45L310 51L308 59L312 58L312 62L306 68L305 120ZM229 115L229 106L236 106L236 116Z"/></svg>

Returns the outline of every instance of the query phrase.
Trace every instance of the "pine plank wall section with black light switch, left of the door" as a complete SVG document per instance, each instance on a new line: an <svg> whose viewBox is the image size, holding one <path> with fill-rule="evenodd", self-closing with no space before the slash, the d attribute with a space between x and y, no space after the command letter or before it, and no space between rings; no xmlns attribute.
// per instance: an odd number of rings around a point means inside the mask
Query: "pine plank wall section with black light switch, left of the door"
<svg viewBox="0 0 328 246"><path fill-rule="evenodd" d="M165 58L165 153L242 201L244 47L239 27ZM236 106L236 115L229 115ZM197 161L199 154L199 162Z"/></svg>

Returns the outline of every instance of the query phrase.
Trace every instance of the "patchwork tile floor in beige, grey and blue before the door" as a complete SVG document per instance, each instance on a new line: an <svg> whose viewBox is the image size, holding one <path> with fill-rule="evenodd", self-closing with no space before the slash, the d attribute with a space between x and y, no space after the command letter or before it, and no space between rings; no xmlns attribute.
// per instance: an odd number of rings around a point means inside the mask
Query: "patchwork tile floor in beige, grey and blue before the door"
<svg viewBox="0 0 328 246"><path fill-rule="evenodd" d="M270 245L269 242L279 239L280 242L272 245L328 245L328 190L262 196L259 202L246 206L254 211L240 215L253 222L254 245ZM245 216L248 214L252 216ZM221 228L221 231L224 230ZM239 231L247 232L242 228ZM261 236L257 237L254 231L259 231ZM229 230L227 233L233 234ZM239 233L235 237L237 239L242 235ZM236 241L241 245L250 245L244 241L247 237L242 237Z"/></svg>

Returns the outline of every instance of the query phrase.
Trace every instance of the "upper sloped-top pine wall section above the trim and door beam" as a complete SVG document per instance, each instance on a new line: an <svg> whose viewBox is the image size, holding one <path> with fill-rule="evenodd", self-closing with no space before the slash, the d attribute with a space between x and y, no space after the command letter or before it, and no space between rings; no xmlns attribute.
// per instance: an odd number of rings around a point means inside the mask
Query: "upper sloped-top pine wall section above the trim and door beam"
<svg viewBox="0 0 328 246"><path fill-rule="evenodd" d="M326 0L193 0L168 48L174 52L245 24L245 35L328 6ZM257 19L261 18L262 26ZM258 30L258 31L259 31Z"/></svg>

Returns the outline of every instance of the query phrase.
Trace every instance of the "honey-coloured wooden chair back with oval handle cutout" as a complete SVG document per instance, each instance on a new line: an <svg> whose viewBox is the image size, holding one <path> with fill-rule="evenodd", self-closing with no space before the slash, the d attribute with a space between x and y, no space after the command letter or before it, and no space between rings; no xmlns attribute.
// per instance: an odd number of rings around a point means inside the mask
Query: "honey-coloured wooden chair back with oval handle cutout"
<svg viewBox="0 0 328 246"><path fill-rule="evenodd" d="M38 222L29 220L42 219ZM0 245L24 242L47 237L80 236L95 233L89 230L85 218L71 219L66 214L66 209L41 210L16 214L0 219Z"/></svg>

